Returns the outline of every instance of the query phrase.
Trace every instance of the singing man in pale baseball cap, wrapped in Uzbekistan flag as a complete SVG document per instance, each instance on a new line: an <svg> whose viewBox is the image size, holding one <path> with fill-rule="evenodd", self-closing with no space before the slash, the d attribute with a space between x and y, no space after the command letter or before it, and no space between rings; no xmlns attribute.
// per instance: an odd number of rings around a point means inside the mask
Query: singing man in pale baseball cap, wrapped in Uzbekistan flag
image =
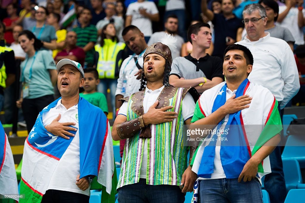
<svg viewBox="0 0 305 203"><path fill-rule="evenodd" d="M89 202L95 176L106 192L111 192L114 158L110 126L100 108L79 96L84 84L81 64L62 59L56 69L62 97L39 113L27 137L20 192L31 191L26 201L32 202Z"/></svg>

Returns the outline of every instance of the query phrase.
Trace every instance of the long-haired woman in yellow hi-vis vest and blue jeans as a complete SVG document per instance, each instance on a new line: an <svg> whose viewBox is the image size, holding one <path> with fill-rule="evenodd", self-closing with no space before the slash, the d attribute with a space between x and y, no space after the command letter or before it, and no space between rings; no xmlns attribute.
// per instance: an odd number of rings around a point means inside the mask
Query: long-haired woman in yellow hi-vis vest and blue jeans
<svg viewBox="0 0 305 203"><path fill-rule="evenodd" d="M108 23L102 28L100 44L95 45L95 66L101 79L97 89L105 96L107 96L107 89L110 89L113 117L115 117L117 78L125 47L125 43L118 41L113 23Z"/></svg>

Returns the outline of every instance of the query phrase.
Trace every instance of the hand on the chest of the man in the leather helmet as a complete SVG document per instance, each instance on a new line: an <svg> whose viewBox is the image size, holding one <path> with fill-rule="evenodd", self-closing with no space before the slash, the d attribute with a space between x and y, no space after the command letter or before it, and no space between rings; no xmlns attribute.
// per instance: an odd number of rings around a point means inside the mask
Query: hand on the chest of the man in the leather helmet
<svg viewBox="0 0 305 203"><path fill-rule="evenodd" d="M175 118L177 118L177 112L173 111L167 111L169 109L172 109L173 106L166 106L161 109L156 109L159 101L156 101L149 107L147 113L143 115L143 121L144 125L148 124L159 124L159 123L165 123L173 121Z"/></svg>

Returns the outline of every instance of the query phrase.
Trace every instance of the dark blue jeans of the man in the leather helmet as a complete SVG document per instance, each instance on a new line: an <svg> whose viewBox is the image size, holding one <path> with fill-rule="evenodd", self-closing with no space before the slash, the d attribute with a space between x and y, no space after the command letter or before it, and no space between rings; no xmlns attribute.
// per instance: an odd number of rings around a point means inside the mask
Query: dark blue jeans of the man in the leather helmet
<svg viewBox="0 0 305 203"><path fill-rule="evenodd" d="M117 200L119 203L183 203L184 196L179 186L147 185L146 179L140 178L138 183L120 187Z"/></svg>

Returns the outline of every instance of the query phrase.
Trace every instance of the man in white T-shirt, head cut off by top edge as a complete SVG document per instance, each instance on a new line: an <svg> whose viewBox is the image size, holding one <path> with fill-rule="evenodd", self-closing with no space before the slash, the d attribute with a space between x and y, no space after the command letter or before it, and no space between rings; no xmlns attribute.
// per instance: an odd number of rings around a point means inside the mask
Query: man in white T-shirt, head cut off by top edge
<svg viewBox="0 0 305 203"><path fill-rule="evenodd" d="M152 35L152 21L159 21L159 11L154 2L138 0L128 5L125 27L134 25L145 37Z"/></svg>

